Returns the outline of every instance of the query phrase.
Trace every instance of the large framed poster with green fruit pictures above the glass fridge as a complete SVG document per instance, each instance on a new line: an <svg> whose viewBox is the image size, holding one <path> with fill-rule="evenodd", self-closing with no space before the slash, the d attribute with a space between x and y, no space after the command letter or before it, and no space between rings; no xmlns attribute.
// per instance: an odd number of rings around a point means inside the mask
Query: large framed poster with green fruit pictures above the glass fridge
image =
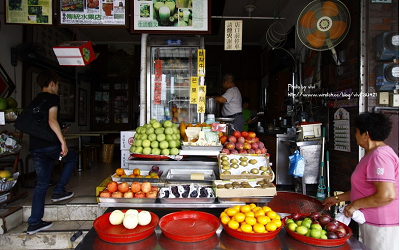
<svg viewBox="0 0 400 250"><path fill-rule="evenodd" d="M204 33L210 29L209 0L134 0L132 33Z"/></svg>

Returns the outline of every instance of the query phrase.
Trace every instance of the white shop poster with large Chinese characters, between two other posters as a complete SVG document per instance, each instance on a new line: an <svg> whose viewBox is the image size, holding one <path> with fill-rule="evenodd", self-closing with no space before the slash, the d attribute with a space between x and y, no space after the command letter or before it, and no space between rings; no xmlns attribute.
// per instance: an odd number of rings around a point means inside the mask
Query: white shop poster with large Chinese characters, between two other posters
<svg viewBox="0 0 400 250"><path fill-rule="evenodd" d="M126 0L59 0L60 25L110 25L127 24Z"/></svg>

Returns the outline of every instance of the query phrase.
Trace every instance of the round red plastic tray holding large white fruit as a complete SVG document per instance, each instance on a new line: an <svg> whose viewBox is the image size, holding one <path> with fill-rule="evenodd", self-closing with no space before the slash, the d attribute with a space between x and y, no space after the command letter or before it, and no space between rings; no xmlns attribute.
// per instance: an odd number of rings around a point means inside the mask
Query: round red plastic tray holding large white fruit
<svg viewBox="0 0 400 250"><path fill-rule="evenodd" d="M126 210L121 210L126 212ZM138 210L139 212L141 210ZM151 222L146 226L138 225L134 229L126 229L124 225L111 225L109 221L110 213L103 214L93 222L93 227L100 239L111 243L130 243L143 240L149 237L157 227L159 218L150 212Z"/></svg>

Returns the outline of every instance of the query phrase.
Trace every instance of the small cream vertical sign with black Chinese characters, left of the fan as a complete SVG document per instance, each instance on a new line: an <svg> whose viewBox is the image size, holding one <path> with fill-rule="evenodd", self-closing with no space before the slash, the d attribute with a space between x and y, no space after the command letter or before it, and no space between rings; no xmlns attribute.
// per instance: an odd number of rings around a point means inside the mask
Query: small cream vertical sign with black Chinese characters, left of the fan
<svg viewBox="0 0 400 250"><path fill-rule="evenodd" d="M225 50L242 50L243 20L225 21Z"/></svg>

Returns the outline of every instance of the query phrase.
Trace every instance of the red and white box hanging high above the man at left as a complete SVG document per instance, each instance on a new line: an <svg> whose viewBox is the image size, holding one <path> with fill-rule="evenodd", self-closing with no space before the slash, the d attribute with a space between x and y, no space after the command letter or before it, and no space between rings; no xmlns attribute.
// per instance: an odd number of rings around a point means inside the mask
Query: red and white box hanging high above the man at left
<svg viewBox="0 0 400 250"><path fill-rule="evenodd" d="M53 47L61 66L86 66L97 58L90 41L66 41Z"/></svg>

